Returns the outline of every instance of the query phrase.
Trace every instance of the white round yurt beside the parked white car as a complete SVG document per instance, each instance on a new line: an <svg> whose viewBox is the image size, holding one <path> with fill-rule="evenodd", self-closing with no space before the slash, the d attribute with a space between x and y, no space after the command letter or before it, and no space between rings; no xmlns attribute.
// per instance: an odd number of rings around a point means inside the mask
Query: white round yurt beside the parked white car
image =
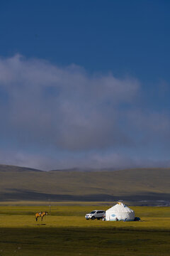
<svg viewBox="0 0 170 256"><path fill-rule="evenodd" d="M106 220L124 220L130 221L135 219L135 212L124 203L117 203L115 206L106 210Z"/></svg>

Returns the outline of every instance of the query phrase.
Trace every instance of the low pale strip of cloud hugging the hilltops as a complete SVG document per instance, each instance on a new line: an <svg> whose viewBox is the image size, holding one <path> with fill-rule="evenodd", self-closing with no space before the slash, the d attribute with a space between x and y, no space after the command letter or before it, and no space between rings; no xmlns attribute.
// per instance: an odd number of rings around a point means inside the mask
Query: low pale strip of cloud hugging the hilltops
<svg viewBox="0 0 170 256"><path fill-rule="evenodd" d="M16 166L25 166L44 171L54 169L130 169L130 168L168 168L170 161L159 159L149 159L141 157L130 157L114 152L86 153L81 156L77 154L68 154L67 156L44 156L42 154L29 154L23 151L0 151L0 163Z"/></svg>

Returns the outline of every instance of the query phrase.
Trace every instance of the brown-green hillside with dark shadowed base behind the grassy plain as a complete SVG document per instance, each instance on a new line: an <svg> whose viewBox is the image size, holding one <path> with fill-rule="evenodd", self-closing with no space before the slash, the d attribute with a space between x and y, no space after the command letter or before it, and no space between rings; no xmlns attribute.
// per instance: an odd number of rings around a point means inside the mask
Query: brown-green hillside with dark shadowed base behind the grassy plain
<svg viewBox="0 0 170 256"><path fill-rule="evenodd" d="M40 171L0 165L0 201L169 200L170 169Z"/></svg>

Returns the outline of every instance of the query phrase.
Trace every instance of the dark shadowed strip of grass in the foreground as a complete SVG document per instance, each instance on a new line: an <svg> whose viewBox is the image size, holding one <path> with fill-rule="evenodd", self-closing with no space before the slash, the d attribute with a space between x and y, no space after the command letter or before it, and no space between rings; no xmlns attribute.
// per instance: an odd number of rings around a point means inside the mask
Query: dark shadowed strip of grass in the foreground
<svg viewBox="0 0 170 256"><path fill-rule="evenodd" d="M38 224L38 226L44 225ZM169 233L115 228L1 228L0 248L8 255L169 255ZM10 251L11 250L11 251ZM35 253L36 252L36 253ZM142 254L141 254L142 252ZM4 254L5 255L5 254Z"/></svg>

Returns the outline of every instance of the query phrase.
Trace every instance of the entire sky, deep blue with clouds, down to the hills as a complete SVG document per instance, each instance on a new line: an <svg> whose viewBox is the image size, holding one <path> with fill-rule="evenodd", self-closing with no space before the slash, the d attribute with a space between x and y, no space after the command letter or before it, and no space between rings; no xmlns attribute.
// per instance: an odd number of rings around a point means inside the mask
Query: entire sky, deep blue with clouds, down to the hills
<svg viewBox="0 0 170 256"><path fill-rule="evenodd" d="M0 164L170 166L170 2L0 2Z"/></svg>

